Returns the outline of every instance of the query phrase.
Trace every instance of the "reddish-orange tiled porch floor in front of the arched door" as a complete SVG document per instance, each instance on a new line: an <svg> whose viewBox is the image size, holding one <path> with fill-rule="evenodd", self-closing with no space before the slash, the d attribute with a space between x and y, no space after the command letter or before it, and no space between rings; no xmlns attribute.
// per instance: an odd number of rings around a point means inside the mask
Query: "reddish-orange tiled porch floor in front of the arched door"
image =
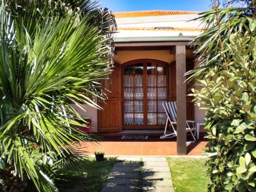
<svg viewBox="0 0 256 192"><path fill-rule="evenodd" d="M173 156L177 155L176 139L160 140L158 136L149 136L146 140L120 139L121 136L104 137L100 142L84 142L83 150L86 155L93 155L95 151L103 151L105 155L121 156ZM207 140L200 138L195 143L187 144L187 155L203 155L203 148Z"/></svg>

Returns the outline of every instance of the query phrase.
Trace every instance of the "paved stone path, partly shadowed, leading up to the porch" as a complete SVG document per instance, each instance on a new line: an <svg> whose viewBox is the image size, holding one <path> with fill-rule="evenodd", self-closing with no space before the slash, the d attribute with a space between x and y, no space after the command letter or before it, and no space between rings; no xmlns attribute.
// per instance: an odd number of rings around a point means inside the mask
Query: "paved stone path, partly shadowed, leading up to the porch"
<svg viewBox="0 0 256 192"><path fill-rule="evenodd" d="M165 157L118 157L101 192L174 192Z"/></svg>

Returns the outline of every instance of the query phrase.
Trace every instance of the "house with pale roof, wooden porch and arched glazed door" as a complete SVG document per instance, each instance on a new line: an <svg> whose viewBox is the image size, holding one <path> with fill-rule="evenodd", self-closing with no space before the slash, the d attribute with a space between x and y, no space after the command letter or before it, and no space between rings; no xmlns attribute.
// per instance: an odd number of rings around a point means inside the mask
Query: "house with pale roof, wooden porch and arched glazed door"
<svg viewBox="0 0 256 192"><path fill-rule="evenodd" d="M190 85L184 73L194 68L190 42L202 32L193 11L136 11L115 13L115 65L104 110L87 106L82 115L92 118L93 132L164 130L164 101L176 101L177 126L202 121L204 112L186 96ZM79 110L79 109L77 109ZM179 130L178 130L179 132ZM180 130L178 143L185 143ZM182 134L183 133L183 134ZM179 152L178 152L179 153ZM182 153L182 148L181 148Z"/></svg>

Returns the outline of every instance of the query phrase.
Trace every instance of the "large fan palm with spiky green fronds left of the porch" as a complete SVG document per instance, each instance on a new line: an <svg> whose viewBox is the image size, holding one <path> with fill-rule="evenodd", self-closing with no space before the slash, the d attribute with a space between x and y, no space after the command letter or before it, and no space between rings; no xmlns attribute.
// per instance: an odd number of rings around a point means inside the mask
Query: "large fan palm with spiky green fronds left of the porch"
<svg viewBox="0 0 256 192"><path fill-rule="evenodd" d="M115 19L89 0L3 0L0 19L2 189L15 187L9 174L56 191L56 169L76 166L79 142L94 139L76 129L71 104L104 99L98 81L111 72Z"/></svg>

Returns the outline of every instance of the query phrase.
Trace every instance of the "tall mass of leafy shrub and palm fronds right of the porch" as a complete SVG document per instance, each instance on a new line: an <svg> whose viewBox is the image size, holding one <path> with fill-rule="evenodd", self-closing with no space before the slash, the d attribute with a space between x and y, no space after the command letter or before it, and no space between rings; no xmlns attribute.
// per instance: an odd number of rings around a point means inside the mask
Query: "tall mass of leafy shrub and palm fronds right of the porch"
<svg viewBox="0 0 256 192"><path fill-rule="evenodd" d="M226 6L215 2L202 13L206 30L196 38L200 56L193 71L202 89L193 95L206 110L208 190L255 191L255 4Z"/></svg>

